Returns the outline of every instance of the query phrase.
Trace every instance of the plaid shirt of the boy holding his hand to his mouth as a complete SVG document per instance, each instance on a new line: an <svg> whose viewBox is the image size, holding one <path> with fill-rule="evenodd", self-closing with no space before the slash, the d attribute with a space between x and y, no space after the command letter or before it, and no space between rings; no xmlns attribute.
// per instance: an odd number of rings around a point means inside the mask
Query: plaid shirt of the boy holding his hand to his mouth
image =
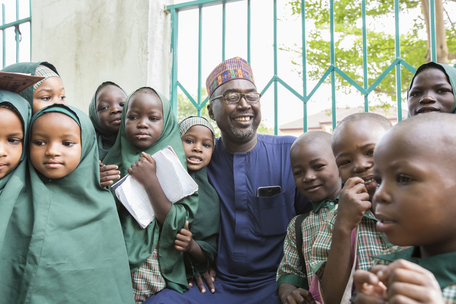
<svg viewBox="0 0 456 304"><path fill-rule="evenodd" d="M331 247L332 232L337 216L337 206L328 212L325 224L321 226L315 242L311 249L311 267L314 273L321 279L329 256ZM373 266L374 255L384 252L392 247L383 235L378 231L376 223L378 220L372 211L364 213L358 225L358 249L356 255L356 269L368 270ZM353 248L353 244L352 244Z"/></svg>

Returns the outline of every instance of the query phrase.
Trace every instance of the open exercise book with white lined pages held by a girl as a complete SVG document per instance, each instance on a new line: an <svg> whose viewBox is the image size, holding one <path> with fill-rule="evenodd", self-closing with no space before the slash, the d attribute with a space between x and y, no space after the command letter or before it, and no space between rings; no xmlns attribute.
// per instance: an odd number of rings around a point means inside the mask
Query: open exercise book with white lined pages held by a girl
<svg viewBox="0 0 456 304"><path fill-rule="evenodd" d="M152 155L156 163L156 173L163 192L173 204L198 190L197 183L188 175L171 146ZM119 201L127 208L142 228L155 218L155 212L144 187L130 175L126 175L112 185Z"/></svg>

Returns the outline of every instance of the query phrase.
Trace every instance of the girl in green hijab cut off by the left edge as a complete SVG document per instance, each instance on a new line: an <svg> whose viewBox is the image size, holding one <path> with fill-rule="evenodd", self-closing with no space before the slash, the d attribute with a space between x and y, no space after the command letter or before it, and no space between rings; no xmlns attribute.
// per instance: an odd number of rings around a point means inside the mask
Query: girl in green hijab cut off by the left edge
<svg viewBox="0 0 456 304"><path fill-rule="evenodd" d="M0 296L5 303L20 303L33 221L26 157L30 105L0 90L0 117Z"/></svg>

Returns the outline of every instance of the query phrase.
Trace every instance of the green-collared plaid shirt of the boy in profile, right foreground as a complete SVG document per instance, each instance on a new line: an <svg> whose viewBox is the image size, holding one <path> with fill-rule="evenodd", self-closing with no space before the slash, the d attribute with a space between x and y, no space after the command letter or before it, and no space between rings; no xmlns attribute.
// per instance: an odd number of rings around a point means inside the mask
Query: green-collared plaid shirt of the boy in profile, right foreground
<svg viewBox="0 0 456 304"><path fill-rule="evenodd" d="M456 304L456 252L438 254L430 258L419 258L418 247L394 246L376 255L374 264L389 264L404 259L429 270L442 289L445 304Z"/></svg>

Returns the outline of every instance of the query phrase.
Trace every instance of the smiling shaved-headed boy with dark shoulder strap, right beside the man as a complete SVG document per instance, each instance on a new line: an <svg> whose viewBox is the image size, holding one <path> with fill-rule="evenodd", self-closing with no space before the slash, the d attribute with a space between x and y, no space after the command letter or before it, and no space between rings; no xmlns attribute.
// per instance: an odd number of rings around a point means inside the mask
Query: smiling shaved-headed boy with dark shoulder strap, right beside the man
<svg viewBox="0 0 456 304"><path fill-rule="evenodd" d="M303 215L304 220L300 221L302 217L295 216L288 225L276 288L283 304L310 304L313 303L308 291L313 278L309 263L312 244L328 211L336 206L342 189L332 155L331 134L324 131L302 134L291 146L290 163L296 188L312 200L312 210ZM301 233L296 229L300 229ZM296 239L299 236L302 236L301 242Z"/></svg>

